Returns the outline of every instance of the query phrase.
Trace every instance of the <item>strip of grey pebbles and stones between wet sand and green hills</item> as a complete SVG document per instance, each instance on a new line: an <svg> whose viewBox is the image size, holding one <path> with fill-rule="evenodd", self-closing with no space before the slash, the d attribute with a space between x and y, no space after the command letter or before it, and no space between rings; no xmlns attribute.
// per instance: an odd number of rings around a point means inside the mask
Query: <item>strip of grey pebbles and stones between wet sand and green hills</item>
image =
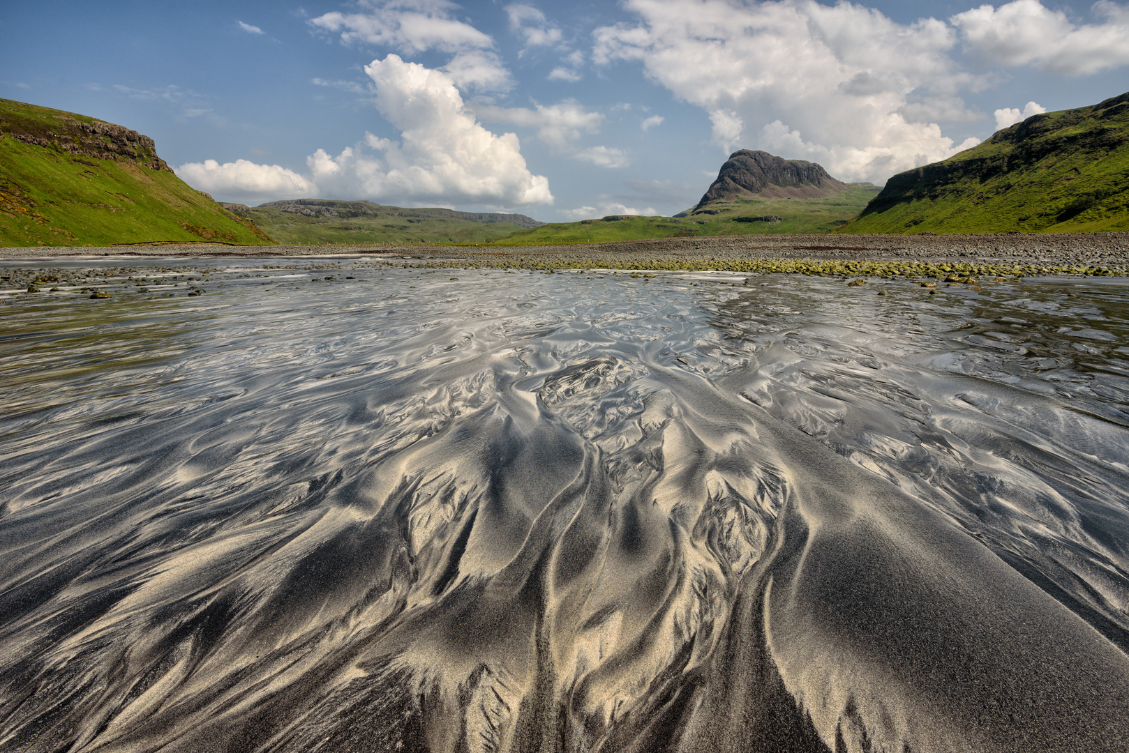
<svg viewBox="0 0 1129 753"><path fill-rule="evenodd" d="M795 235L657 238L601 244L555 246L425 246L366 244L357 246L227 246L220 244L163 244L106 247L0 248L0 259L59 256L322 256L338 254L387 255L418 260L524 265L576 265L623 262L625 257L697 263L708 260L767 259L935 261L965 264L1041 264L1049 266L1129 265L1129 233L1045 235ZM524 261L522 261L524 260Z"/></svg>

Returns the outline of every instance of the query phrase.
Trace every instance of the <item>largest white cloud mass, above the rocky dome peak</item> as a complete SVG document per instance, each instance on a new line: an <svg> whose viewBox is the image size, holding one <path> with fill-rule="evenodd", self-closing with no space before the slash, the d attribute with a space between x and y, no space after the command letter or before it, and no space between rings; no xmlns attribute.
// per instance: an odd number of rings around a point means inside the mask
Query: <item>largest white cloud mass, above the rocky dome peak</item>
<svg viewBox="0 0 1129 753"><path fill-rule="evenodd" d="M701 107L723 149L761 148L821 163L841 180L885 181L944 159L955 145L927 103L965 112L974 84L953 61L957 30L899 24L850 2L627 0L636 23L594 32L594 60L639 61Z"/></svg>

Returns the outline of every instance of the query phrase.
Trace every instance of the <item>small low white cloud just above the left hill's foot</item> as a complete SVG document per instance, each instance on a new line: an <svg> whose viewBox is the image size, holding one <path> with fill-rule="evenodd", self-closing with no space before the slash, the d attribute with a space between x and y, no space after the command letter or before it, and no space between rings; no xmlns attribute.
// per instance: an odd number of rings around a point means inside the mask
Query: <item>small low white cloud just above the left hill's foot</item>
<svg viewBox="0 0 1129 753"><path fill-rule="evenodd" d="M215 159L185 163L176 174L198 191L247 203L277 199L307 199L317 195L317 186L306 177L280 165L257 165L246 159L220 165Z"/></svg>

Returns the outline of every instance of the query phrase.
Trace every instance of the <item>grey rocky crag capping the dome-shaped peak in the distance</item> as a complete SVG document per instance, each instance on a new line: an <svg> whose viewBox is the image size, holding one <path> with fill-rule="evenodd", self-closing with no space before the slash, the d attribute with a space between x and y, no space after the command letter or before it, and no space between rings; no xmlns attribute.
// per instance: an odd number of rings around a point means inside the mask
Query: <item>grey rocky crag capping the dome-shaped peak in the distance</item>
<svg viewBox="0 0 1129 753"><path fill-rule="evenodd" d="M742 149L729 155L717 180L698 202L755 195L762 199L820 199L847 190L815 163L784 159L767 151Z"/></svg>

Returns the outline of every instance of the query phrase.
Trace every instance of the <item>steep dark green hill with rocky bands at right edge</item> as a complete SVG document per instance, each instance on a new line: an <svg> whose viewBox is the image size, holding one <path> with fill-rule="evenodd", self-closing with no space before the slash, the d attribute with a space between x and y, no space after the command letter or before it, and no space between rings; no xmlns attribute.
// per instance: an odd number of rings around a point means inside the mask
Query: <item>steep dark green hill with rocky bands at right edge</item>
<svg viewBox="0 0 1129 753"><path fill-rule="evenodd" d="M1129 94L895 175L839 233L1129 230Z"/></svg>

